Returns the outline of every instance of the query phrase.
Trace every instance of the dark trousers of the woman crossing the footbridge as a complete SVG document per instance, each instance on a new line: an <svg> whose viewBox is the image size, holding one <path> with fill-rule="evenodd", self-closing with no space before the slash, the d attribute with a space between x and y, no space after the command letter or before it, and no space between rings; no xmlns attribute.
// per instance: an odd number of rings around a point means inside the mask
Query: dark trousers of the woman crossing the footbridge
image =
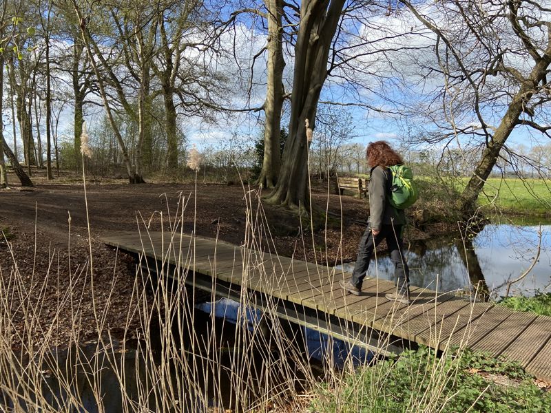
<svg viewBox="0 0 551 413"><path fill-rule="evenodd" d="M373 235L371 224L368 224L360 245L357 248L357 260L352 272L351 283L362 288L362 282L369 268L371 255L382 240L386 240L388 251L391 253L391 261L394 264L394 278L399 294L409 294L409 268L404 258L402 246L403 225L383 225L380 233Z"/></svg>

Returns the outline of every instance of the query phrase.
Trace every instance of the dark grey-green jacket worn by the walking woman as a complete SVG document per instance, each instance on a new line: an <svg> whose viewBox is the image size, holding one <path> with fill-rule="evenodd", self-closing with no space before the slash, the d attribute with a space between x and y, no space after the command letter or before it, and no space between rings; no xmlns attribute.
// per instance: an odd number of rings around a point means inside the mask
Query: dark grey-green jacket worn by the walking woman
<svg viewBox="0 0 551 413"><path fill-rule="evenodd" d="M371 229L380 230L383 224L406 224L406 214L403 209L395 209L388 204L391 193L392 173L388 168L371 169L369 180L369 222Z"/></svg>

